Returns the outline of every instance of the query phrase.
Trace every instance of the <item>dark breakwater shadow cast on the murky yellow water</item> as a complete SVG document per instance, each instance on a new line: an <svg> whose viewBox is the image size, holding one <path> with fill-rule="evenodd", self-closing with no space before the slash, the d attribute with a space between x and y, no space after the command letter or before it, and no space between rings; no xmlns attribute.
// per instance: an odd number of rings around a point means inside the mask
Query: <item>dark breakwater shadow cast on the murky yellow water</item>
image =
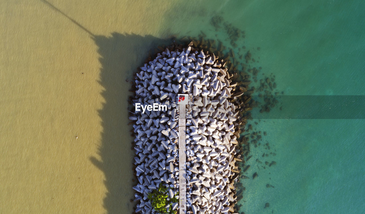
<svg viewBox="0 0 365 214"><path fill-rule="evenodd" d="M133 138L128 121L128 95L134 71L142 66L149 52L158 45L167 44L151 35L112 33L110 37L95 35L92 37L98 46L100 80L104 87L101 95L105 102L99 116L103 126L100 160L91 157L91 162L105 174L107 193L104 208L107 213L131 213L134 203L133 157L131 150ZM128 80L128 82L126 81Z"/></svg>

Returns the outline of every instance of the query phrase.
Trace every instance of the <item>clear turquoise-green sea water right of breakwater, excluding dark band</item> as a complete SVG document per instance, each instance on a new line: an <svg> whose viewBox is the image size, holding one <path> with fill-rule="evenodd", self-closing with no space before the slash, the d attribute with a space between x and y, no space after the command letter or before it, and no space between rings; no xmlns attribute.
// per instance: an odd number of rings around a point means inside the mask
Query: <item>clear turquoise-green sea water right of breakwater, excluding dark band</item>
<svg viewBox="0 0 365 214"><path fill-rule="evenodd" d="M214 12L201 10L201 16L220 15L245 30L246 38L238 46L245 45L259 61L252 65L276 76L278 91L285 95L365 95L364 1L248 0L212 5ZM173 30L168 30L183 35L203 30L207 37L226 37L224 32L209 29L206 21L190 20L190 15L181 16L189 20L187 25L169 25ZM312 105L308 103L307 108ZM239 201L240 212L364 213L365 120L253 122L254 129L267 132L262 142L268 142L276 156L262 157L270 151L251 147L253 157L247 162L251 168L245 174L251 177L257 172L258 177L241 180L246 190ZM265 161L277 164L263 169ZM265 209L265 203L270 207Z"/></svg>

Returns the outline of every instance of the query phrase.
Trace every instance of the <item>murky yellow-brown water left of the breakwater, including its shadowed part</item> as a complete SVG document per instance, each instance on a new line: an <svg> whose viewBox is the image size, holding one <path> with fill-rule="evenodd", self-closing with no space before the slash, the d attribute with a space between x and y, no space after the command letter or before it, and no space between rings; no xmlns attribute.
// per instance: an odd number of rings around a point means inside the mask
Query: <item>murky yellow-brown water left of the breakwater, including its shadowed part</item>
<svg viewBox="0 0 365 214"><path fill-rule="evenodd" d="M0 213L131 213L125 79L170 2L49 3L0 2Z"/></svg>

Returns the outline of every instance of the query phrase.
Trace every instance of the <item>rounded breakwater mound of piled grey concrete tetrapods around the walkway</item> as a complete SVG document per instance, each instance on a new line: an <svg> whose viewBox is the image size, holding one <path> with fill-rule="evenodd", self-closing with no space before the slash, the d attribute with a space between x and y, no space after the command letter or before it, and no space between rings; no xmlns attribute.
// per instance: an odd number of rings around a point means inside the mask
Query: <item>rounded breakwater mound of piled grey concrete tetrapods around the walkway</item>
<svg viewBox="0 0 365 214"><path fill-rule="evenodd" d="M132 103L167 105L167 110L129 117L135 134L135 212L156 213L151 192L166 188L167 213L179 210L177 94L186 105L187 213L235 213L234 181L242 114L238 98L246 90L232 80L226 61L194 47L172 45L150 59L134 81ZM180 204L181 205L181 204ZM181 210L179 210L181 211Z"/></svg>

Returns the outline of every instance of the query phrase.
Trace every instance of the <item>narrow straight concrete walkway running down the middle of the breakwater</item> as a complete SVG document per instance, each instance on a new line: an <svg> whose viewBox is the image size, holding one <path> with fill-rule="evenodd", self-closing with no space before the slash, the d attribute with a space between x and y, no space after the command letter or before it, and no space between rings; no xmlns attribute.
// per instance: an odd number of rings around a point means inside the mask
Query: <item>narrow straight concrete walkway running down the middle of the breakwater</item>
<svg viewBox="0 0 365 214"><path fill-rule="evenodd" d="M179 105L179 200L180 214L186 214L186 105Z"/></svg>

